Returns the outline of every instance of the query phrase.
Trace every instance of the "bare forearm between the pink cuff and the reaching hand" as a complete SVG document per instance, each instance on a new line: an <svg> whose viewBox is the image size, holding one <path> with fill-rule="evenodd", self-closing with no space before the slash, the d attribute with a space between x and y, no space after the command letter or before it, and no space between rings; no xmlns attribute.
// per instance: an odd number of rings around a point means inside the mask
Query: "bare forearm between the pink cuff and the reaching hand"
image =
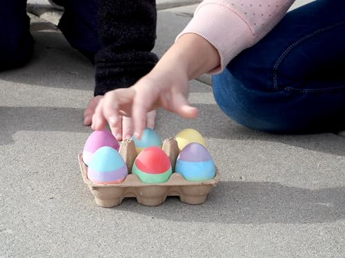
<svg viewBox="0 0 345 258"><path fill-rule="evenodd" d="M153 69L172 69L186 74L189 80L218 67L217 50L206 39L193 33L181 36L164 54Z"/></svg>

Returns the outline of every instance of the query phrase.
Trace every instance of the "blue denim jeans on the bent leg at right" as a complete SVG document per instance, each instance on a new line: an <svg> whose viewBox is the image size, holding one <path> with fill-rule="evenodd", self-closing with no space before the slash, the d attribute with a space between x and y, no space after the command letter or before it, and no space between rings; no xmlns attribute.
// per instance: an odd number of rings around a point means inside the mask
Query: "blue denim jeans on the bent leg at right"
<svg viewBox="0 0 345 258"><path fill-rule="evenodd" d="M219 107L251 129L345 130L345 1L288 12L259 43L213 76Z"/></svg>

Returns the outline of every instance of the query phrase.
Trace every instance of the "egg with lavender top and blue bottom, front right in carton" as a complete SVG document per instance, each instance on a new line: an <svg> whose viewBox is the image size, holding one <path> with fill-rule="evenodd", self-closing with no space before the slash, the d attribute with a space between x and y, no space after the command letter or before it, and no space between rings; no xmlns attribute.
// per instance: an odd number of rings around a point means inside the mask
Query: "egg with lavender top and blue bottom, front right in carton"
<svg viewBox="0 0 345 258"><path fill-rule="evenodd" d="M175 172L188 181L206 181L215 178L215 164L203 145L192 142L179 153Z"/></svg>

